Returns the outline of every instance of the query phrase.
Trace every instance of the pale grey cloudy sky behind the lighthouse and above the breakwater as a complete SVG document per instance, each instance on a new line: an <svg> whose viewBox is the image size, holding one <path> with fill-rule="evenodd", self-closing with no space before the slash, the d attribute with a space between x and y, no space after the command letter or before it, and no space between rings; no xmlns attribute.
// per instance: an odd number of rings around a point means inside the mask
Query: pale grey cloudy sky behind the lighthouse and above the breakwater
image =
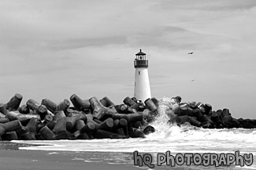
<svg viewBox="0 0 256 170"><path fill-rule="evenodd" d="M2 0L0 103L75 93L120 104L143 49L152 97L256 119L255 18L254 0Z"/></svg>

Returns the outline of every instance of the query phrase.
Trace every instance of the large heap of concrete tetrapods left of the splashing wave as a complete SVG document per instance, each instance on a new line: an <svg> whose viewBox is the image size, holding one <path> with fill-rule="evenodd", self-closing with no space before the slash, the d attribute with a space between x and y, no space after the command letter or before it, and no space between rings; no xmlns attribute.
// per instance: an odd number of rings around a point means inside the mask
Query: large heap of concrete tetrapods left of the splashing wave
<svg viewBox="0 0 256 170"><path fill-rule="evenodd" d="M154 128L149 125L158 115L158 99L144 103L135 97L115 104L108 97L82 99L72 94L69 99L41 103L15 94L0 103L0 137L2 140L58 139L126 139L143 138Z"/></svg>

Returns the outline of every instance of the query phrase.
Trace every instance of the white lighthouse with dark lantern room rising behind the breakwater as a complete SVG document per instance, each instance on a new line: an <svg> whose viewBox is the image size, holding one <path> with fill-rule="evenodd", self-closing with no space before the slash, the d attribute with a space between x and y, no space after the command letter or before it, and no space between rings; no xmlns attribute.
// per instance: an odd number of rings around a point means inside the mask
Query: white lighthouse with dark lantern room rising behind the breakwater
<svg viewBox="0 0 256 170"><path fill-rule="evenodd" d="M134 60L135 67L135 86L134 96L138 100L143 102L151 98L150 92L150 80L148 77L148 60L146 60L146 53L142 52L141 49L135 54Z"/></svg>

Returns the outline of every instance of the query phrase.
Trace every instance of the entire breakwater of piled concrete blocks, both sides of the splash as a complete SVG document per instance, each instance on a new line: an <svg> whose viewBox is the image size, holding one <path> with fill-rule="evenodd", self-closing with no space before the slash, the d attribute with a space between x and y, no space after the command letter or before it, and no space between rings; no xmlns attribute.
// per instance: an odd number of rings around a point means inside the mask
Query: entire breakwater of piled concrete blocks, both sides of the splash
<svg viewBox="0 0 256 170"><path fill-rule="evenodd" d="M0 103L2 140L143 138L154 132L149 124L158 117L162 104L168 107L165 114L170 123L202 128L256 128L255 120L232 118L226 108L214 111L210 104L180 103L181 98L163 103L155 98L142 102L126 97L121 104L115 104L108 97L81 99L73 94L60 103L28 99L20 106L22 99L15 94L7 103Z"/></svg>

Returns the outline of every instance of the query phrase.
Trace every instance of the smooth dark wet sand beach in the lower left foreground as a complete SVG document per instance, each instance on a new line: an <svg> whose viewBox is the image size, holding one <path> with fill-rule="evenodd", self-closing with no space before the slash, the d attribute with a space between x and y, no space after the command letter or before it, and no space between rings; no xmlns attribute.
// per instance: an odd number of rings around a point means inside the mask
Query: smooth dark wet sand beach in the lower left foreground
<svg viewBox="0 0 256 170"><path fill-rule="evenodd" d="M1 143L0 169L5 170L80 170L141 169L135 165L104 160L106 154L46 150L18 150L20 143ZM24 146L24 145L23 145ZM108 153L109 154L109 153ZM132 154L131 154L132 155ZM90 157L95 158L94 161ZM132 157L131 157L132 159Z"/></svg>

